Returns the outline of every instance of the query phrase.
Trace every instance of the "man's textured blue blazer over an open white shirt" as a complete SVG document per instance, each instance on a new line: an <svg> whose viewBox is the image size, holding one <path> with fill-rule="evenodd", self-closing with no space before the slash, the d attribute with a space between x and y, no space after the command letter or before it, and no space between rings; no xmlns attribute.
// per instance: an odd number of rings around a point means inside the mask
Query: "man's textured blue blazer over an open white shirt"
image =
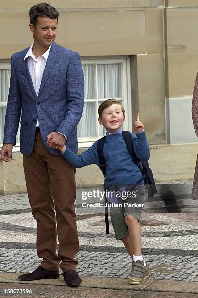
<svg viewBox="0 0 198 298"><path fill-rule="evenodd" d="M60 154L59 150L51 149L47 144L47 135L54 131L64 134L68 148L77 152L76 126L84 104L84 75L80 56L53 43L37 96L28 70L28 59L24 61L28 49L11 57L3 142L15 145L21 116L21 153L30 155L33 150L37 119L43 142L50 153Z"/></svg>

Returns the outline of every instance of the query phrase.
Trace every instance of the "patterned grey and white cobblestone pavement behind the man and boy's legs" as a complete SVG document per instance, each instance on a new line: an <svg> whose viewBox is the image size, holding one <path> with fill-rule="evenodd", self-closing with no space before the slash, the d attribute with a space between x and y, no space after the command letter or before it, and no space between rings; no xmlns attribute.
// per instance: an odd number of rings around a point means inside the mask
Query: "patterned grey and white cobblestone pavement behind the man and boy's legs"
<svg viewBox="0 0 198 298"><path fill-rule="evenodd" d="M159 194L148 199L141 217L142 247L151 273L145 279L198 282L198 201L190 199L192 181L158 184ZM110 223L105 234L104 208L82 208L76 199L81 276L120 277L130 274L132 260ZM94 202L87 199L87 203ZM31 272L36 254L36 221L27 194L0 196L0 271Z"/></svg>

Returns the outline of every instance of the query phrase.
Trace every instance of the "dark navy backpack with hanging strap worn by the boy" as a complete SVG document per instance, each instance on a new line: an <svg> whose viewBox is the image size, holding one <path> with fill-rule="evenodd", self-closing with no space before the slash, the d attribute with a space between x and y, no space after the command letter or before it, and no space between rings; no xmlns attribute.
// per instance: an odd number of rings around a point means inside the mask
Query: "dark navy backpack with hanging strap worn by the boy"
<svg viewBox="0 0 198 298"><path fill-rule="evenodd" d="M155 193L157 193L157 189L155 186L155 181L153 178L152 170L148 166L148 161L141 161L135 155L134 149L133 149L132 136L129 131L122 131L122 136L123 136L123 139L127 146L129 155L132 158L133 163L138 166L138 168L140 169L140 171L143 175L143 177L140 180L138 180L128 190L133 191L142 181L144 181L144 184L146 185L146 187L148 189L148 198L153 197L153 195ZM99 156L99 167L100 167L104 177L106 175L106 164L105 164L104 152L103 152L105 140L106 140L106 136L99 139L98 143L97 143L97 151L98 151L98 156ZM105 197L105 204L106 203L107 203L107 198ZM108 207L105 207L105 222L106 222L106 234L109 234Z"/></svg>

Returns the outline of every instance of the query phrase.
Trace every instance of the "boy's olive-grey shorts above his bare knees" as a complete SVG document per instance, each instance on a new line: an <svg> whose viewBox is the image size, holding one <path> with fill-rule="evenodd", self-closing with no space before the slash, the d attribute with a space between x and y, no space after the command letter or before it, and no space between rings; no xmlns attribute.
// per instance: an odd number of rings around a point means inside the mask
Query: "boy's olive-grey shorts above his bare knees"
<svg viewBox="0 0 198 298"><path fill-rule="evenodd" d="M122 207L110 207L110 216L112 226L115 232L115 239L120 240L129 235L128 227L124 217L126 215L134 216L138 222L140 221L141 212L147 200L147 192L145 186L138 186L135 190L135 198L124 200Z"/></svg>

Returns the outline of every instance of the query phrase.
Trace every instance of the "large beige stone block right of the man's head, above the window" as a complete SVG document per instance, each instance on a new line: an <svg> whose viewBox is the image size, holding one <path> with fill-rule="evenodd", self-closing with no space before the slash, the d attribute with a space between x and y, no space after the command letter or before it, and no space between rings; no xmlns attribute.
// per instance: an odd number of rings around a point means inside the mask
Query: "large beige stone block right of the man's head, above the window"
<svg viewBox="0 0 198 298"><path fill-rule="evenodd" d="M145 12L63 11L57 42L81 56L145 53Z"/></svg>

